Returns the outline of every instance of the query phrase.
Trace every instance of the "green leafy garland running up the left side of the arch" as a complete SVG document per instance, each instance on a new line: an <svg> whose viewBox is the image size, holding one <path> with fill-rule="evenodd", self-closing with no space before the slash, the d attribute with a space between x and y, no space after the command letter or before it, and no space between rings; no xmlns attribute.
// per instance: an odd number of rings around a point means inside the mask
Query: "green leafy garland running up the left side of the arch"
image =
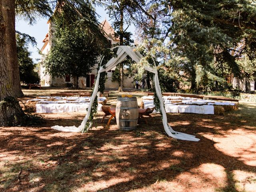
<svg viewBox="0 0 256 192"><path fill-rule="evenodd" d="M118 48L115 48L113 50L111 50L110 48L108 49L105 49L104 50L104 53L102 54L102 57L100 58L100 62L102 60L102 63L99 63L98 64L98 67L97 67L97 72L98 70L100 69L100 67L102 66L104 69L106 68L106 64L107 62L112 58L112 57L117 57L117 52ZM101 65L100 65L101 64ZM97 74L98 76L98 74ZM96 76L96 79L97 79L97 76ZM98 88L98 91L100 93L104 93L104 90L105 90L105 82L107 80L107 72L102 72L100 73L100 80L99 80L99 88ZM94 90L94 86L95 86L95 82L94 82L94 85L93 85L93 89ZM93 93L93 92L92 92ZM92 96L92 95L91 95ZM92 128L92 122L93 122L93 119L94 117L96 116L97 114L97 111L98 111L98 96L95 97L93 103L92 103L92 109L91 109L91 112L90 112L90 116L84 126L84 130L82 131L83 133L84 132L88 132L88 130L90 130Z"/></svg>

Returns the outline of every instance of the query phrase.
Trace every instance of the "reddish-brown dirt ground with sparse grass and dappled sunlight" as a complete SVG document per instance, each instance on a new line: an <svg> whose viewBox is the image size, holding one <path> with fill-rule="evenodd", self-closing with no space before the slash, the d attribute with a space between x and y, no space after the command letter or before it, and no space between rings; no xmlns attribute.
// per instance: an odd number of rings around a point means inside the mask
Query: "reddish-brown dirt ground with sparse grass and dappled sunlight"
<svg viewBox="0 0 256 192"><path fill-rule="evenodd" d="M56 90L24 90L24 99L50 92ZM108 104L117 94L110 92ZM0 127L0 191L256 191L255 103L241 101L239 110L222 116L167 115L174 130L199 142L168 137L159 114L130 132L114 121L100 124L102 112L85 134L50 128L79 126L84 115L42 114L41 126Z"/></svg>

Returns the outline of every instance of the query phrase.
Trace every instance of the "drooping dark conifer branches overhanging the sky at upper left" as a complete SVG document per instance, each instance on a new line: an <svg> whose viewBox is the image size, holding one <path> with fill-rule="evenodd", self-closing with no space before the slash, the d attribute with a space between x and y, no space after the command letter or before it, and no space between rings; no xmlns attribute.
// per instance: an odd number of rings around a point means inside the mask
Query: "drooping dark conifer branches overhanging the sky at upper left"
<svg viewBox="0 0 256 192"><path fill-rule="evenodd" d="M16 16L27 20L30 24L34 24L37 18L53 19L60 13L64 17L64 25L76 24L82 27L85 33L94 37L97 44L105 47L108 40L96 19L93 7L95 4L101 3L88 0L15 0L15 13ZM52 16L53 10L54 16Z"/></svg>

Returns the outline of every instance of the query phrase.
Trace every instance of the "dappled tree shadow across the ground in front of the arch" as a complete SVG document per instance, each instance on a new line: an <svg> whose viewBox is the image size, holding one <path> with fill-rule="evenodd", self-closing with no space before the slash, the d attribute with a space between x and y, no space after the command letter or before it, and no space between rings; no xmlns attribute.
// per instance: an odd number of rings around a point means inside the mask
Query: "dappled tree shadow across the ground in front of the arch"
<svg viewBox="0 0 256 192"><path fill-rule="evenodd" d="M198 176L198 167L216 164L224 169L224 187L219 187L208 174L199 174L200 179L217 191L237 191L232 171L256 173L256 168L220 152L216 142L202 135L217 133L224 136L224 132L230 130L255 130L255 127L248 127L250 118L245 117L248 106L240 104L240 107L239 111L225 116L168 114L168 122L174 130L195 134L200 142L168 138L159 115L148 120L148 125L142 122L136 131L131 132L111 126L95 129L95 125L100 124L100 116L95 120L94 130L86 134L64 133L43 127L25 128L24 132L18 128L2 128L0 152L15 158L1 164L0 189L8 192L114 192L144 188L142 191L150 191L157 182L168 184L181 174ZM46 119L47 126L56 123L78 126L80 122ZM23 169L22 182L17 181L20 168ZM193 186L189 180L188 183ZM183 182L179 185L189 191L190 186ZM203 190L203 186L197 186L198 190L200 187Z"/></svg>

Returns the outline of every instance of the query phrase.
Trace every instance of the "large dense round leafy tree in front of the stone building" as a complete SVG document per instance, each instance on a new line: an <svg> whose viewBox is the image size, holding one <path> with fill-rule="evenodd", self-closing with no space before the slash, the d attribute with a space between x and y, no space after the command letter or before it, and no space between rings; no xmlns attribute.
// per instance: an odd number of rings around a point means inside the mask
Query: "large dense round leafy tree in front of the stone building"
<svg viewBox="0 0 256 192"><path fill-rule="evenodd" d="M56 33L54 46L43 61L52 76L86 77L92 71L100 53L94 38L76 24L66 24L64 15L54 18Z"/></svg>

